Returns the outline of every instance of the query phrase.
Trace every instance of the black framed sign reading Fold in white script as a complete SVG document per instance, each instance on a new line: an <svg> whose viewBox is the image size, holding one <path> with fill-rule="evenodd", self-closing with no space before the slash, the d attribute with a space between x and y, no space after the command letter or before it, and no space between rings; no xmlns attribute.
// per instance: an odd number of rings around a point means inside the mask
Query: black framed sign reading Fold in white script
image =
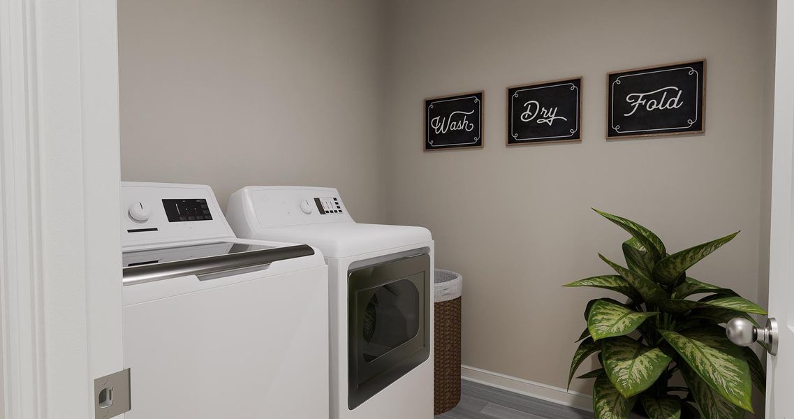
<svg viewBox="0 0 794 419"><path fill-rule="evenodd" d="M706 60L607 75L607 138L703 133Z"/></svg>

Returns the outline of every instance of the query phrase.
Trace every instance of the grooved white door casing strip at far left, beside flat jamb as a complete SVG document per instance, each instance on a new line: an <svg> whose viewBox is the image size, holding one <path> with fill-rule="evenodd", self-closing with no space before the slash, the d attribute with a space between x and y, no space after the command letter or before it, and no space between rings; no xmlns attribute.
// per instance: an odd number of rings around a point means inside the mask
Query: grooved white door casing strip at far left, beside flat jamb
<svg viewBox="0 0 794 419"><path fill-rule="evenodd" d="M44 308L36 10L0 6L2 414L44 417Z"/></svg>

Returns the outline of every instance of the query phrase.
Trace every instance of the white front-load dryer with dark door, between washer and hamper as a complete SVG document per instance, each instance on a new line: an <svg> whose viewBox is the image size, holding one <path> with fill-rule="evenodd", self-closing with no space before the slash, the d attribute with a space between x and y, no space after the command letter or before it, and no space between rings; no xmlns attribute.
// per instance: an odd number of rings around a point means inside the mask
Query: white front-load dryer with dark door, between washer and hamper
<svg viewBox="0 0 794 419"><path fill-rule="evenodd" d="M427 229L358 224L336 189L247 186L237 236L319 248L329 266L330 417L433 416L434 243Z"/></svg>

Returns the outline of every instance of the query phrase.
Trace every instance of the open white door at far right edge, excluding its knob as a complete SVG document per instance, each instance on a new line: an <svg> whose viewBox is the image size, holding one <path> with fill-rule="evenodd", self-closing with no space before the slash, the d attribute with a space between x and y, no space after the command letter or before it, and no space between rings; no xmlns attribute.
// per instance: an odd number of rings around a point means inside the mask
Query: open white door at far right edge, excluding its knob
<svg viewBox="0 0 794 419"><path fill-rule="evenodd" d="M777 356L767 357L766 417L794 417L794 2L777 2L769 317L779 325Z"/></svg>

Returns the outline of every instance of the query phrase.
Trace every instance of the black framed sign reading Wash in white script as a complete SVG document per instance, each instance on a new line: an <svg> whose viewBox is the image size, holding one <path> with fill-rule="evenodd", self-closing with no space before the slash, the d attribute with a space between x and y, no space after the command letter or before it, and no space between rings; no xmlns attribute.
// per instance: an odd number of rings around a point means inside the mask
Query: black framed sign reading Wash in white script
<svg viewBox="0 0 794 419"><path fill-rule="evenodd" d="M425 99L425 150L483 146L483 92Z"/></svg>

